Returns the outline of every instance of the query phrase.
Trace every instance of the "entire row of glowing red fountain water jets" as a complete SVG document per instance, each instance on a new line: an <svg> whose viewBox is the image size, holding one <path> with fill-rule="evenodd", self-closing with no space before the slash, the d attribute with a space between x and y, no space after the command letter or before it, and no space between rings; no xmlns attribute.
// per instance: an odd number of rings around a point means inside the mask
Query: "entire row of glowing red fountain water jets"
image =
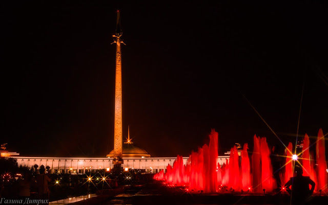
<svg viewBox="0 0 328 205"><path fill-rule="evenodd" d="M210 144L204 144L197 152L192 151L187 164L183 164L182 156L177 156L173 167L167 166L166 172L161 170L154 175L156 180L165 181L168 186L183 186L190 192L217 193L247 192L247 193L270 193L277 188L273 176L271 164L271 151L267 139L254 135L254 148L250 161L248 144L244 144L239 156L236 146L231 148L230 158L223 163L218 163L218 133L212 129ZM317 184L316 191L326 193L327 189L327 164L325 161L324 135L319 130L316 141L316 162L310 154L309 136L305 134L302 160L293 157L293 145L289 143L285 152L285 165L282 169L282 183L293 176L293 165L303 167L304 175L310 176ZM294 163L294 164L293 164Z"/></svg>

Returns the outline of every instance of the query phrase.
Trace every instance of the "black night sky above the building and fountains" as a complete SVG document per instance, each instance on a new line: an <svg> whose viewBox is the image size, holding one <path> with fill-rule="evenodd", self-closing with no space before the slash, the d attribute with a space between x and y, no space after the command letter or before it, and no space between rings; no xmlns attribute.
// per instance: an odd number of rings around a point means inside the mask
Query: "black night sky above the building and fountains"
<svg viewBox="0 0 328 205"><path fill-rule="evenodd" d="M248 101L295 143L302 90L299 133L328 132L326 1L2 1L0 143L23 156L109 153L116 9L124 136L130 125L152 156L187 156L211 128L221 152L255 133L278 144Z"/></svg>

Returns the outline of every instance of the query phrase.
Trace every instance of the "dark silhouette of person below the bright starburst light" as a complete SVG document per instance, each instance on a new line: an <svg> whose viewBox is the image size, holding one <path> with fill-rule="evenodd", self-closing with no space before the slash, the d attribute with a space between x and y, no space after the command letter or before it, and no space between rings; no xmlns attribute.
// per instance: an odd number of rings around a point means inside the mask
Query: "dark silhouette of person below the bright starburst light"
<svg viewBox="0 0 328 205"><path fill-rule="evenodd" d="M309 176L303 176L303 170L295 167L294 177L291 177L285 184L285 188L292 186L292 204L310 204L310 197L313 194L315 183ZM311 185L311 190L309 189Z"/></svg>

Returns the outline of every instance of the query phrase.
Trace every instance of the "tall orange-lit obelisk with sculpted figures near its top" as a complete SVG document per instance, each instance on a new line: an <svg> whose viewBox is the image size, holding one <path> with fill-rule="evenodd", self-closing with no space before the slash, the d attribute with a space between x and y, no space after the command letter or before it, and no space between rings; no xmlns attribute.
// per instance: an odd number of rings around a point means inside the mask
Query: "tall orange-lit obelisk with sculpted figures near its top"
<svg viewBox="0 0 328 205"><path fill-rule="evenodd" d="M114 160L113 164L120 167L122 159L122 70L121 70L121 40L119 10L117 10L116 33L113 35L116 44L116 73L115 73L115 117L114 117Z"/></svg>

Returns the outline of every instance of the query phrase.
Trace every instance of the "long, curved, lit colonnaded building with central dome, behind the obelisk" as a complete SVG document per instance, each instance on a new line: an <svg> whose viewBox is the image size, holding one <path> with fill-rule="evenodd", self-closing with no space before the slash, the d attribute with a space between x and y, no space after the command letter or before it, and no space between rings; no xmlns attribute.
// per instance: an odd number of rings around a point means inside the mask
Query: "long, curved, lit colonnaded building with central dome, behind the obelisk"
<svg viewBox="0 0 328 205"><path fill-rule="evenodd" d="M19 153L8 152L2 150L2 157L15 158L18 166L33 167L37 164L38 168L41 165L49 166L50 173L71 173L71 174L85 174L89 171L103 169L110 171L113 167L113 152L112 150L107 157L36 157L36 156L18 156ZM240 151L238 151L238 154ZM224 156L218 156L217 162L222 165L229 161L230 152L224 153ZM130 130L128 130L127 141L122 145L122 156L124 169L140 169L149 173L157 173L160 170L166 172L168 165L173 166L176 156L172 157L150 157L151 155L144 149L135 146L130 139ZM183 164L188 163L188 156L183 157Z"/></svg>

